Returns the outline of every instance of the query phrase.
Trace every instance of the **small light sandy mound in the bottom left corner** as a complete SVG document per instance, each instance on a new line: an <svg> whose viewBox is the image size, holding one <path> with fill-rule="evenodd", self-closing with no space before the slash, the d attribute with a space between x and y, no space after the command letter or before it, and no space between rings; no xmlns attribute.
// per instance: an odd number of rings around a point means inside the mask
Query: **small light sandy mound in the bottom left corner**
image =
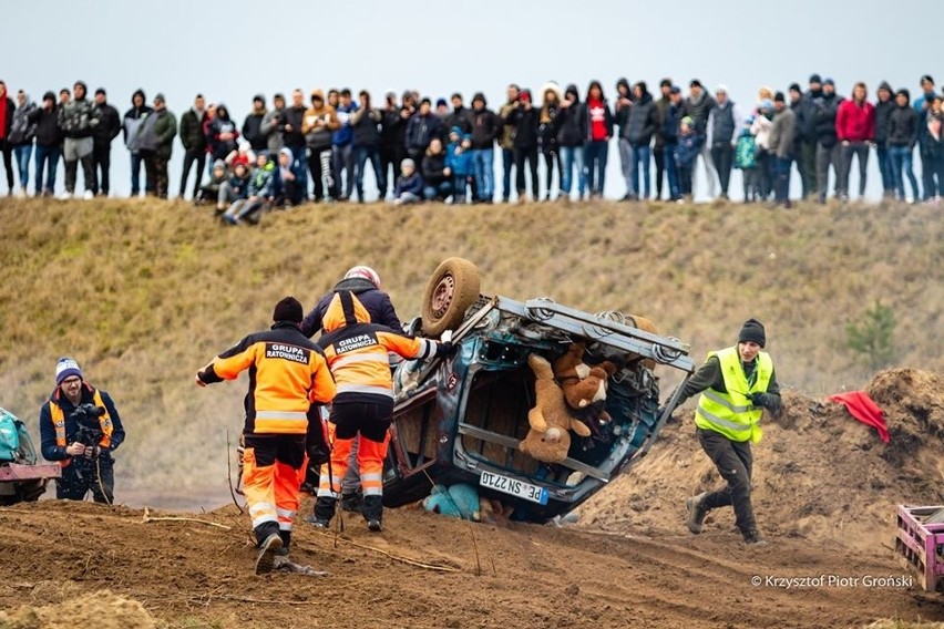
<svg viewBox="0 0 944 629"><path fill-rule="evenodd" d="M0 629L72 629L85 623L101 629L153 629L154 619L136 600L109 590L42 607L0 611Z"/></svg>

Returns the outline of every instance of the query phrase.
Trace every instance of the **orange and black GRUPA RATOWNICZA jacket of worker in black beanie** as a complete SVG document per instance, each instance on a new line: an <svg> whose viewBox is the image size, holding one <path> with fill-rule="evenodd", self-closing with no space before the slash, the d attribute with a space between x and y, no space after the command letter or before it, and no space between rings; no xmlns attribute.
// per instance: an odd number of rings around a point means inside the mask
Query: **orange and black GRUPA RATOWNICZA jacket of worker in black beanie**
<svg viewBox="0 0 944 629"><path fill-rule="evenodd" d="M249 334L213 359L201 380L207 384L235 380L246 369L246 433L306 434L310 403L326 404L335 398L325 354L291 322Z"/></svg>

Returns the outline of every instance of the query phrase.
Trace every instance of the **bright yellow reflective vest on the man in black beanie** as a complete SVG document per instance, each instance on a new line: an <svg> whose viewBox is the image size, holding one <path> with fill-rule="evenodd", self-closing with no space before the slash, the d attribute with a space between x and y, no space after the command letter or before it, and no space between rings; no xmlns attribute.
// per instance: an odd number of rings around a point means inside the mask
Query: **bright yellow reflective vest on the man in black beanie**
<svg viewBox="0 0 944 629"><path fill-rule="evenodd" d="M717 355L720 361L727 393L706 389L698 398L695 425L720 433L731 441L759 442L762 432L758 422L763 410L751 403L750 395L767 392L773 373L773 360L767 352L758 354L757 379L751 386L741 367L737 346L708 353L709 359L712 355Z"/></svg>

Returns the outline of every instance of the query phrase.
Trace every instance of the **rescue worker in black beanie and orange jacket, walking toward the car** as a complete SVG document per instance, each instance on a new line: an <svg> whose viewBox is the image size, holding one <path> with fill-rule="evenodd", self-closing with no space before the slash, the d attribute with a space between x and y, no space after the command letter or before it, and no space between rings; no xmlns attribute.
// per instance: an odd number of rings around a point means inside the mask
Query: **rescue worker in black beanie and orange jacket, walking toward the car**
<svg viewBox="0 0 944 629"><path fill-rule="evenodd" d="M243 483L259 546L256 574L298 568L287 558L305 474L308 412L335 396L325 354L298 328L301 317L301 303L284 298L270 330L249 334L196 373L196 383L206 386L249 370ZM311 430L320 423L312 422Z"/></svg>

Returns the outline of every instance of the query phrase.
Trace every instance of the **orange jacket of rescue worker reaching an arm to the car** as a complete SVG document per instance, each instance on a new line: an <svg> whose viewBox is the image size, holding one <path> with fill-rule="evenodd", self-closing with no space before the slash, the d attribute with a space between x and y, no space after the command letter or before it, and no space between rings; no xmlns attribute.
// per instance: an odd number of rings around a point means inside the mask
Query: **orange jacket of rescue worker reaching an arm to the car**
<svg viewBox="0 0 944 629"><path fill-rule="evenodd" d="M318 344L325 349L328 365L338 383L338 402L370 402L377 396L393 398L393 379L387 352L403 358L432 358L440 344L393 332L370 323L370 314L349 291L331 299L322 320L325 336Z"/></svg>

